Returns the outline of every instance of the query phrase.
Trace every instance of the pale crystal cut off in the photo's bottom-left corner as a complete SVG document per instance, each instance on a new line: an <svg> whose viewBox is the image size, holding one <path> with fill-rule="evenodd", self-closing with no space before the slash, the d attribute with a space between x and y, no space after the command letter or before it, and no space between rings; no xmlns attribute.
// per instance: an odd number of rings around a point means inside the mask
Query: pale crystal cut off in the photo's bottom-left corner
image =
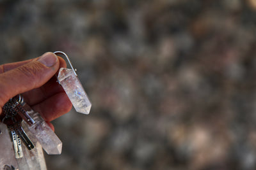
<svg viewBox="0 0 256 170"><path fill-rule="evenodd" d="M19 169L8 129L0 122L0 169L8 168Z"/></svg>

